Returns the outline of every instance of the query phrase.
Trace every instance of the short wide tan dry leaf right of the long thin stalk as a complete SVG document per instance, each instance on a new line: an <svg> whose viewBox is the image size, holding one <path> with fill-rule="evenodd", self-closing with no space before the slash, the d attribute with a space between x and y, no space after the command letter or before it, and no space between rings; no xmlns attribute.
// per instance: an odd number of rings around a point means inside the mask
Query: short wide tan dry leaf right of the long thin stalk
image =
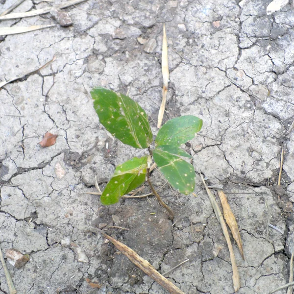
<svg viewBox="0 0 294 294"><path fill-rule="evenodd" d="M243 252L243 246L242 246L242 240L241 240L241 236L240 236L240 232L239 232L239 228L238 228L238 224L237 221L235 219L235 216L231 210L231 207L228 203L227 197L225 196L225 194L222 191L218 190L218 194L219 197L221 199L221 206L222 206L222 210L223 210L223 217L226 221L226 223L228 224L232 235L238 245L238 248L240 250L240 253L242 255L242 258L245 260L244 258L244 252Z"/></svg>

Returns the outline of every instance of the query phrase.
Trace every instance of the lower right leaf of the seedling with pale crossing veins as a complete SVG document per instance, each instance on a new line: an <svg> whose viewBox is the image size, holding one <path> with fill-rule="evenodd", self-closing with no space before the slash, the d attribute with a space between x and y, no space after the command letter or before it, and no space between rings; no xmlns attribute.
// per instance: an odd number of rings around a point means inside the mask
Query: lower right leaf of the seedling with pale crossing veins
<svg viewBox="0 0 294 294"><path fill-rule="evenodd" d="M195 171L190 163L160 147L153 150L153 158L174 189L185 195L194 191Z"/></svg>

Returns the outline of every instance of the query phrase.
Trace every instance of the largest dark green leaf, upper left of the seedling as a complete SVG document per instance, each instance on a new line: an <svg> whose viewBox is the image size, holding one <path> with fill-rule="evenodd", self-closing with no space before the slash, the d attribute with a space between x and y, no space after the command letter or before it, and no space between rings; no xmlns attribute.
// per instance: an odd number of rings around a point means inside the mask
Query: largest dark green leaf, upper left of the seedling
<svg viewBox="0 0 294 294"><path fill-rule="evenodd" d="M131 98L105 88L91 91L99 121L124 144L147 148L152 132L146 112Z"/></svg>

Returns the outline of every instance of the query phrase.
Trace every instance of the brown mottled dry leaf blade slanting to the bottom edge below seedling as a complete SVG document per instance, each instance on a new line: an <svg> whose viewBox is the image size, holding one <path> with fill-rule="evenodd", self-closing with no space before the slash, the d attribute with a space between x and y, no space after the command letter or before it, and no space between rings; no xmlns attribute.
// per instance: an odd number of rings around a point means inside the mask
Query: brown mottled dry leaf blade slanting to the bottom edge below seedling
<svg viewBox="0 0 294 294"><path fill-rule="evenodd" d="M132 263L143 270L149 277L168 290L171 294L185 294L179 288L172 284L167 278L155 270L147 260L138 255L134 250L115 240L114 238L102 233L109 241L112 242Z"/></svg>

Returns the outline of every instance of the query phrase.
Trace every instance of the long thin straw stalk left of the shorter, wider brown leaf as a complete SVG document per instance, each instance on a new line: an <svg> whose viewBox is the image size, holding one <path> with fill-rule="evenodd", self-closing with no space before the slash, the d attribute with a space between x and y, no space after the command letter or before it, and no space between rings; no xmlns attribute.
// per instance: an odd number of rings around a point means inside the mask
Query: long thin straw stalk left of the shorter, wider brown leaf
<svg viewBox="0 0 294 294"><path fill-rule="evenodd" d="M226 240L226 242L228 244L231 263L232 263L232 270L233 270L233 286L234 286L235 292L237 292L241 287L241 285L240 285L240 277L239 277L239 271L238 271L238 267L237 267L237 264L236 264L236 258L235 258L235 254L234 254L234 251L233 251L233 246L232 246L232 243L231 243L231 240L230 240L229 232L228 232L228 229L227 229L227 227L225 225L224 219L223 219L223 217L221 215L220 207L219 207L215 197L213 196L213 194L210 192L209 188L207 187L201 173L200 173L200 176L201 176L203 185L204 185L204 187L206 189L206 192L208 194L211 206L212 206L212 208L214 210L214 213L215 213L218 221L221 224L221 229L222 229L223 235L224 235L225 240Z"/></svg>

